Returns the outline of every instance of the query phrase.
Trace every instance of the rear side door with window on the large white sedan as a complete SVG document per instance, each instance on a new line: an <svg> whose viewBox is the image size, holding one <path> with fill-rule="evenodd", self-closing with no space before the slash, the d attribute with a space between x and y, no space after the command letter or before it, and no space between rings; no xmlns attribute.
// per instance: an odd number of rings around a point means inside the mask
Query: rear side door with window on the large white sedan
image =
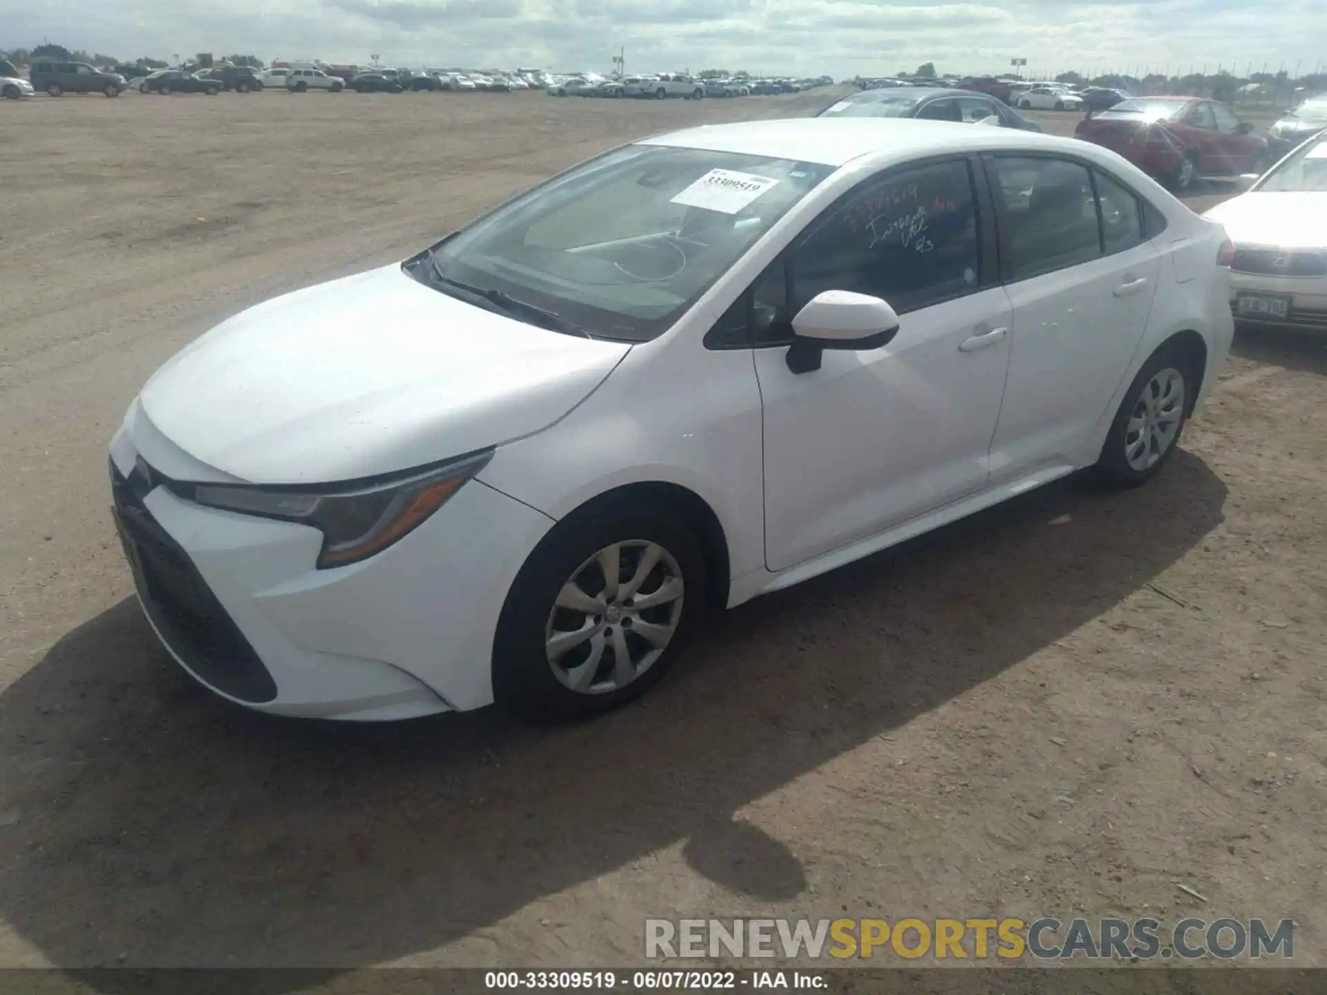
<svg viewBox="0 0 1327 995"><path fill-rule="evenodd" d="M1080 466L1143 341L1161 257L1144 237L1143 200L1116 176L1059 155L983 161L1014 309L991 472Z"/></svg>

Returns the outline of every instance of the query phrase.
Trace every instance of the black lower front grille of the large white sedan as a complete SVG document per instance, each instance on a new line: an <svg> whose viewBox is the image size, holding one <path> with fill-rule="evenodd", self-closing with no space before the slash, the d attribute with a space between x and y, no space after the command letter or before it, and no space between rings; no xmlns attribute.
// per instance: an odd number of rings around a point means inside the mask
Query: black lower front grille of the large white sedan
<svg viewBox="0 0 1327 995"><path fill-rule="evenodd" d="M184 552L143 504L161 478L142 460L110 464L115 523L138 597L162 639L200 681L242 702L276 698L276 683Z"/></svg>

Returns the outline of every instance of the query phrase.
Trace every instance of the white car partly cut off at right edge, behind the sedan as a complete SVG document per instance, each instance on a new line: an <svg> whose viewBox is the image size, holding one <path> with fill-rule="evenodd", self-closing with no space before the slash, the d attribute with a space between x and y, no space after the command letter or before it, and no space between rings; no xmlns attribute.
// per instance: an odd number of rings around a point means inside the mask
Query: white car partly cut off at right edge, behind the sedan
<svg viewBox="0 0 1327 995"><path fill-rule="evenodd" d="M1249 192L1206 212L1235 245L1230 308L1243 321L1327 332L1327 134Z"/></svg>

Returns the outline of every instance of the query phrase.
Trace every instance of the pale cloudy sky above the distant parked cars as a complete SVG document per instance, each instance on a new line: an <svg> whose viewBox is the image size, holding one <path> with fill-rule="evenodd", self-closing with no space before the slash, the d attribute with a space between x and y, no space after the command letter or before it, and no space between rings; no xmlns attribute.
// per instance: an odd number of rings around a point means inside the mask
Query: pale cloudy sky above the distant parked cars
<svg viewBox="0 0 1327 995"><path fill-rule="evenodd" d="M1327 0L0 0L0 49L384 65L890 76L1327 69Z"/></svg>

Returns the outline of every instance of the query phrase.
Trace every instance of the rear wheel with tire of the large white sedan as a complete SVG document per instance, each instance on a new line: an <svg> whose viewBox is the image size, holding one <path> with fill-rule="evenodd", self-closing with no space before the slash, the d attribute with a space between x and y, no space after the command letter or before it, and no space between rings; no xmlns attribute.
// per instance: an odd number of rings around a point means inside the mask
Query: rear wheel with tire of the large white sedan
<svg viewBox="0 0 1327 995"><path fill-rule="evenodd" d="M1153 478L1180 443L1197 375L1180 356L1156 353L1133 378L1093 470L1113 487Z"/></svg>

